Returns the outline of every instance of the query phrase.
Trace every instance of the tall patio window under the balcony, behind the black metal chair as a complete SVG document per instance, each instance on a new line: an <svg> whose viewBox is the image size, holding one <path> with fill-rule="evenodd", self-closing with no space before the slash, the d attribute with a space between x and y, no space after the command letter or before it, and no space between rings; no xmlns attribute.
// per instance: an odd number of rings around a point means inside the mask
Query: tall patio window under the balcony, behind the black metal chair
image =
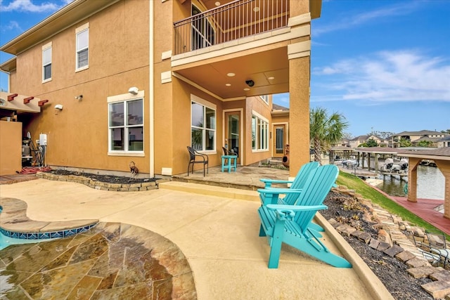
<svg viewBox="0 0 450 300"><path fill-rule="evenodd" d="M216 150L216 110L191 102L191 145L195 150Z"/></svg>

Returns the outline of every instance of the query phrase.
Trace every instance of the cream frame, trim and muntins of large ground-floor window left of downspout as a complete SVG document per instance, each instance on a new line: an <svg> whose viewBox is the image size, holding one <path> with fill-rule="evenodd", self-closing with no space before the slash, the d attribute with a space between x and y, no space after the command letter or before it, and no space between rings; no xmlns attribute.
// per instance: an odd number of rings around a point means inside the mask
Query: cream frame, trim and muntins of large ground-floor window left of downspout
<svg viewBox="0 0 450 300"><path fill-rule="evenodd" d="M131 93L125 93L125 94L121 94L121 95L116 95L116 96L110 96L108 97L107 101L108 101L108 155L110 156L133 156L133 157L143 157L145 156L145 129L144 129L144 122L145 122L145 98L144 98L144 91L138 91L138 93L136 95L132 95ZM114 103L124 103L124 117L125 115L127 115L127 105L126 103L133 101L133 100L139 100L142 99L142 124L137 124L137 125L131 125L128 126L126 124L126 119L124 119L124 150L113 150L111 149L111 143L113 140L113 136L111 134L111 129L114 128L120 128L122 126L110 126L110 104L114 104ZM142 143L142 150L129 150L129 131L127 131L127 128L133 128L133 127L140 127L142 126L142 138L143 138L143 143Z"/></svg>

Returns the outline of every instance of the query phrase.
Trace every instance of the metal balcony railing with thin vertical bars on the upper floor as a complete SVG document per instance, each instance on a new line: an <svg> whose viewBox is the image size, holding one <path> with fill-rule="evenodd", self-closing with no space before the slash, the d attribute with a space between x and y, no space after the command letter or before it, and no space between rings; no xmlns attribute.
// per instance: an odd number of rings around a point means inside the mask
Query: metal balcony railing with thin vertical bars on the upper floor
<svg viewBox="0 0 450 300"><path fill-rule="evenodd" d="M238 0L174 23L174 55L286 27L289 0Z"/></svg>

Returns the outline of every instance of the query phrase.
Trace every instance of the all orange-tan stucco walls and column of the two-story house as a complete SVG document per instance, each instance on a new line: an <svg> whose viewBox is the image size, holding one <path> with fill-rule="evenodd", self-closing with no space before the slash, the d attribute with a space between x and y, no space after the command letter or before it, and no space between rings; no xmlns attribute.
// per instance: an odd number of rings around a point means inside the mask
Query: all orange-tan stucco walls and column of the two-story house
<svg viewBox="0 0 450 300"><path fill-rule="evenodd" d="M149 35L148 24L150 4L155 11L152 37ZM291 1L291 8L292 16L307 13L308 1ZM49 103L42 107L42 112L37 117L23 117L25 130L32 133L33 139L39 133L48 135L47 164L129 171L129 162L132 160L141 173L148 173L150 138L154 138L155 174L162 174L165 168L171 174L184 173L188 164L186 146L191 143L191 94L214 103L217 107L217 151L210 153L210 167L221 164L221 147L224 145L223 113L230 109L243 111L243 118L240 120L244 128L241 163L252 164L271 157L274 143L271 105L266 105L259 98L222 102L214 98L212 93L201 91L174 76L170 77L169 82L161 82L161 74L172 71L167 56L170 56L168 53L172 50L174 41L173 22L190 14L191 1L119 1L20 53L17 58L19 72L11 74L11 90L49 99ZM75 29L86 22L89 22L89 69L75 72ZM290 42L304 39L309 37ZM53 49L52 80L42 84L41 48L50 41ZM264 45L258 50L286 47L290 42ZM153 49L151 62L150 46ZM253 50L243 51L239 55L252 52ZM165 59L162 59L162 53L165 53ZM220 59L226 60L228 57L231 58L232 55ZM296 156L299 163L295 166L300 167L300 164L309 160L309 136L303 134L309 132L309 58L291 60L290 68L290 122L294 120L294 124L289 128L296 128L295 131L290 130L290 140L299 132L302 133L296 138L300 148L297 149ZM150 78L152 72L154 77ZM150 80L153 84L151 89ZM145 92L144 156L108 156L107 98L126 94L131 86L137 86ZM83 95L83 100L75 100L74 97L80 94ZM150 136L150 96L154 99L153 136ZM63 105L63 110L55 110L56 104ZM252 152L252 110L269 120L271 135L267 151ZM291 149L293 146L291 143Z"/></svg>

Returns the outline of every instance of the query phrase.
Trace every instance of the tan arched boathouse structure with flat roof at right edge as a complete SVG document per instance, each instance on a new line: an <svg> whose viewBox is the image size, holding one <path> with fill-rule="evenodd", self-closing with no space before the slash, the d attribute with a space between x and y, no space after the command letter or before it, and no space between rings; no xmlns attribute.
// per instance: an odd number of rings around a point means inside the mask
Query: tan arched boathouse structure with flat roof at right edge
<svg viewBox="0 0 450 300"><path fill-rule="evenodd" d="M398 155L409 158L408 201L417 202L417 166L423 159L430 159L444 175L444 218L450 219L450 147L433 150L404 150Z"/></svg>

